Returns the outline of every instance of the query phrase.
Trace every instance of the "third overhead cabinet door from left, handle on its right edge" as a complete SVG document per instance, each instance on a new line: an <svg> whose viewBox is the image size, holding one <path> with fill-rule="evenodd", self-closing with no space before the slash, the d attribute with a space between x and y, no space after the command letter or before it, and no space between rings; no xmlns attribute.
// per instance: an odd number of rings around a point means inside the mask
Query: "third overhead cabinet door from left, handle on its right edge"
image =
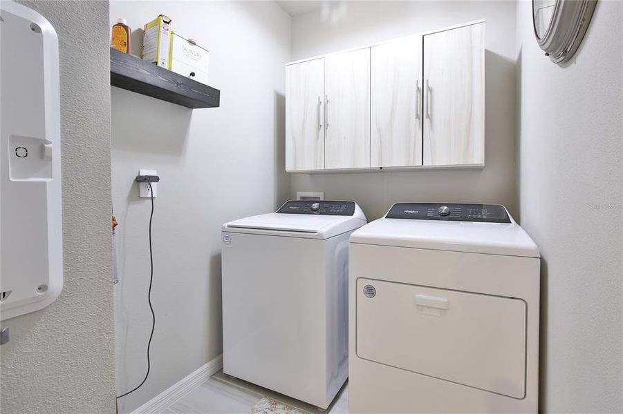
<svg viewBox="0 0 623 414"><path fill-rule="evenodd" d="M422 165L422 37L371 48L372 167Z"/></svg>

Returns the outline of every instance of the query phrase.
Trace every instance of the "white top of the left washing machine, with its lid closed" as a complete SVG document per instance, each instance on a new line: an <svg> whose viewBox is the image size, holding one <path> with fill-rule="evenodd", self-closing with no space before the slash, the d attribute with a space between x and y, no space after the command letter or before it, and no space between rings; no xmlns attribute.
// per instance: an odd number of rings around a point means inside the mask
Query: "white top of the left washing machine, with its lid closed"
<svg viewBox="0 0 623 414"><path fill-rule="evenodd" d="M315 201L288 201L283 204L277 213L269 213L246 217L235 221L230 221L223 225L223 231L232 233L248 233L261 235L278 235L283 237L306 237L310 239L328 239L342 233L346 233L366 224L366 217L362 210L353 201L317 201L322 204L318 213L308 210L302 213L301 209L292 210L293 213L280 213L286 211L284 208L291 206L304 206L314 204ZM337 206L344 203L349 209L348 215L339 208L336 213L331 215L331 208L326 210L324 206ZM307 210L307 209L306 209Z"/></svg>

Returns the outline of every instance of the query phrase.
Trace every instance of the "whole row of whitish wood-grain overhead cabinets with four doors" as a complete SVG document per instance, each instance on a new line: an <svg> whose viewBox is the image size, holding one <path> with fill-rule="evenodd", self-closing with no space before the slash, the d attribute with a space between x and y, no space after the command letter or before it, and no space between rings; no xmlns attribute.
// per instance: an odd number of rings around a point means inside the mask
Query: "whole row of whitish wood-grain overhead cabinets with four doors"
<svg viewBox="0 0 623 414"><path fill-rule="evenodd" d="M484 21L286 66L288 171L484 162Z"/></svg>

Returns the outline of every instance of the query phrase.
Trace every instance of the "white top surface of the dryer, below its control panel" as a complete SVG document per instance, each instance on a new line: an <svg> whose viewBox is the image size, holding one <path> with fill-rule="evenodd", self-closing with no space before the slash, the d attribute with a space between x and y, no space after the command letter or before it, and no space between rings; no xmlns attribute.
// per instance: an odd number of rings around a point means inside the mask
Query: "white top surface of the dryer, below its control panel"
<svg viewBox="0 0 623 414"><path fill-rule="evenodd" d="M510 223L382 218L355 231L351 243L541 257L512 217Z"/></svg>

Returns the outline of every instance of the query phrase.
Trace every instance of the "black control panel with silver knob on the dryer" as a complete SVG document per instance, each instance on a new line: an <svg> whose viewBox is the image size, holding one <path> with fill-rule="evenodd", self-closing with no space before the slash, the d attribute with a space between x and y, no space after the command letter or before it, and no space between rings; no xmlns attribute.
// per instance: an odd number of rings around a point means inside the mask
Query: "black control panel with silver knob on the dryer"
<svg viewBox="0 0 623 414"><path fill-rule="evenodd" d="M510 223L506 209L499 204L397 203L385 218Z"/></svg>

